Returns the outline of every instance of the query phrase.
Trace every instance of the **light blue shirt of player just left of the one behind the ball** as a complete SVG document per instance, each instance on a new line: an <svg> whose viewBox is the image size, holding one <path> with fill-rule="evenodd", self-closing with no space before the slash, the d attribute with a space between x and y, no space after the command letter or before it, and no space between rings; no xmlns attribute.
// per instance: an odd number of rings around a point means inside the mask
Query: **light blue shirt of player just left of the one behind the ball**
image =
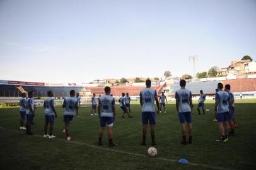
<svg viewBox="0 0 256 170"><path fill-rule="evenodd" d="M98 105L102 109L101 116L113 117L113 107L115 107L115 99L112 96L104 95L99 101Z"/></svg>

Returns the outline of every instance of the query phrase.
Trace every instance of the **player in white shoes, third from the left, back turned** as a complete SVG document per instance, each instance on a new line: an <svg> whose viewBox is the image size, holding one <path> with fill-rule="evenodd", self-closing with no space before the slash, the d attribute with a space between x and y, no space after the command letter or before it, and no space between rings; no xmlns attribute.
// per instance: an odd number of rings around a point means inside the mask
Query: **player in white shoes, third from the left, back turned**
<svg viewBox="0 0 256 170"><path fill-rule="evenodd" d="M52 130L54 129L54 116L57 118L57 113L54 108L54 99L52 99L52 91L47 91L47 98L44 101L45 108L45 126L44 126L44 137L49 137L49 139L55 138L52 135ZM47 127L50 124L50 132L47 134Z"/></svg>

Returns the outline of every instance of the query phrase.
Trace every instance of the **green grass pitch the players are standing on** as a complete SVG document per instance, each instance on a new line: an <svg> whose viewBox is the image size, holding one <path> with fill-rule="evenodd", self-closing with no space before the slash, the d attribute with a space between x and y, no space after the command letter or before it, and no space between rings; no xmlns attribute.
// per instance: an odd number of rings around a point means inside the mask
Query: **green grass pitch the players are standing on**
<svg viewBox="0 0 256 170"><path fill-rule="evenodd" d="M90 116L91 108L81 108L81 117L71 122L71 141L62 133L63 110L55 120L56 139L44 139L44 110L37 108L33 136L19 129L18 109L0 110L0 169L255 169L256 152L256 100L236 101L235 116L238 122L234 137L226 143L215 142L219 137L217 123L212 113L205 116L193 111L193 144L180 145L181 132L175 105L167 105L165 115L156 116L156 149L158 156L146 156L150 147L140 145L141 106L132 105L134 118L121 118L117 105L114 141L117 147L107 145L105 130L103 146L97 146L99 122ZM206 108L213 110L212 102ZM184 157L190 164L178 164Z"/></svg>

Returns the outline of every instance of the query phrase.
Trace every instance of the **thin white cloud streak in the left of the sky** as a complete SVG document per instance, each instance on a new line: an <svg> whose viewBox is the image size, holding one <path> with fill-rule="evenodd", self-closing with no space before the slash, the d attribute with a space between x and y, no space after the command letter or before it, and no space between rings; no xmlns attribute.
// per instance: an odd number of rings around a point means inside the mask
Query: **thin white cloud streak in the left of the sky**
<svg viewBox="0 0 256 170"><path fill-rule="evenodd" d="M15 42L8 42L8 41L3 41L4 45L8 45L8 46L16 46L19 47L23 50L31 50L33 52L45 52L45 51L50 51L50 50L54 50L56 48L54 47L49 47L47 45L39 45L39 46L26 46L26 45L21 45L19 43L15 43Z"/></svg>

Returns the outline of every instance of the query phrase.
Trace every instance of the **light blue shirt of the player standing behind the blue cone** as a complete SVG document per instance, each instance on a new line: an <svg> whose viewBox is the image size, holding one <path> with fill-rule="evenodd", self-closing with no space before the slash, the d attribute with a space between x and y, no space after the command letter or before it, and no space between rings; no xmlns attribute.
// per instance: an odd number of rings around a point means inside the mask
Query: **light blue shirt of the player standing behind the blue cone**
<svg viewBox="0 0 256 170"><path fill-rule="evenodd" d="M185 113L191 111L190 99L192 99L192 93L188 89L179 89L175 93L175 99L178 100L178 112Z"/></svg>

